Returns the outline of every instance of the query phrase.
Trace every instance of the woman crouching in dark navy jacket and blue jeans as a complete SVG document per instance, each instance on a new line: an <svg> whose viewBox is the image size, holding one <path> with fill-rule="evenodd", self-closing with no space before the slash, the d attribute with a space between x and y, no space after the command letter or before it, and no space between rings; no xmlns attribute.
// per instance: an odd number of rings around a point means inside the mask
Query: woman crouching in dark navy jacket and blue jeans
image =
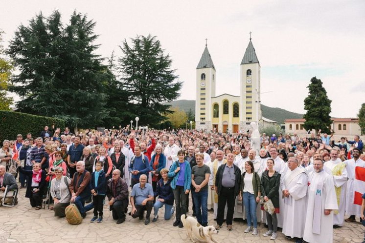
<svg viewBox="0 0 365 243"><path fill-rule="evenodd" d="M157 188L155 191L156 203L153 205L154 218L152 222L156 222L159 219L159 209L163 205L165 205L165 220L169 220L175 211L174 193L170 186L171 180L169 180L167 174L168 170L166 168L160 170L160 175L162 178L157 182ZM159 198L157 199L157 197Z"/></svg>

